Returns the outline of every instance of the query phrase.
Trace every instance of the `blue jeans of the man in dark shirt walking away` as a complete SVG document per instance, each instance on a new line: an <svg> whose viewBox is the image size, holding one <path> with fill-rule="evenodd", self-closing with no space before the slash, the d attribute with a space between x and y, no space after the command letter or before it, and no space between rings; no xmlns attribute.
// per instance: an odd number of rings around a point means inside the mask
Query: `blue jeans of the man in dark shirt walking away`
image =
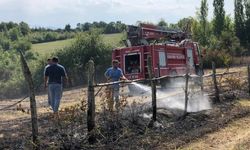
<svg viewBox="0 0 250 150"><path fill-rule="evenodd" d="M62 84L49 84L49 101L53 112L58 112L60 101L62 98Z"/></svg>

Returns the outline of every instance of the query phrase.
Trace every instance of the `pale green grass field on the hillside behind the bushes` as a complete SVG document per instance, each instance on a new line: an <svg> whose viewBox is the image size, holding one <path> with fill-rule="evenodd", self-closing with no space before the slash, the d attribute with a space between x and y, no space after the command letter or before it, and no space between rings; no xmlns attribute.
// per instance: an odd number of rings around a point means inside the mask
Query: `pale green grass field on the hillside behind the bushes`
<svg viewBox="0 0 250 150"><path fill-rule="evenodd" d="M112 45L113 47L122 46L122 44L120 44L122 36L123 36L122 33L102 35L104 42ZM73 41L74 39L67 39L67 40L33 44L31 49L32 51L37 52L40 55L46 55L55 52L56 50L60 50L66 46L69 46Z"/></svg>

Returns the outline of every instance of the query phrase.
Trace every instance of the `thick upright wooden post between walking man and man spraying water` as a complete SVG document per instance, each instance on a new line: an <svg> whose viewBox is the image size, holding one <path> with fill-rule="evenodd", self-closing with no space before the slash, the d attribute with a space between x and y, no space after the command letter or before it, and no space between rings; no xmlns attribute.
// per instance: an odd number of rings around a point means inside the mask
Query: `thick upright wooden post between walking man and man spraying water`
<svg viewBox="0 0 250 150"><path fill-rule="evenodd" d="M95 143L95 135L93 129L95 128L95 90L94 90L94 61L88 62L88 110L87 110L87 126L89 134L89 143Z"/></svg>

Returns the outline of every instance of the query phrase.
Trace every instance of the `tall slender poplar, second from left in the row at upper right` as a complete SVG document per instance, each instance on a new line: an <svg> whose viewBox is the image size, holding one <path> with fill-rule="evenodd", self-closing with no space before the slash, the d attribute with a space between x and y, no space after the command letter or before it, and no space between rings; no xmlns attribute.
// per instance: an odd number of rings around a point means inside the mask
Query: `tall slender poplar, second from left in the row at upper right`
<svg viewBox="0 0 250 150"><path fill-rule="evenodd" d="M225 22L225 10L224 0L214 0L214 20L213 20L213 31L215 36L220 36L224 29Z"/></svg>

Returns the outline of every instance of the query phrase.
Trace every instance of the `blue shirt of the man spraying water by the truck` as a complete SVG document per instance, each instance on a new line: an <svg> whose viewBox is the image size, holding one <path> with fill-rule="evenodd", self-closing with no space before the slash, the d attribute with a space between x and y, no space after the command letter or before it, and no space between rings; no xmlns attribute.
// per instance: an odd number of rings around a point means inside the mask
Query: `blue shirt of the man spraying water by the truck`
<svg viewBox="0 0 250 150"><path fill-rule="evenodd" d="M123 73L121 68L115 69L113 67L110 67L106 70L105 76L111 78L111 80L115 82L120 80L120 78L123 76ZM114 84L113 87L119 87L119 84Z"/></svg>

